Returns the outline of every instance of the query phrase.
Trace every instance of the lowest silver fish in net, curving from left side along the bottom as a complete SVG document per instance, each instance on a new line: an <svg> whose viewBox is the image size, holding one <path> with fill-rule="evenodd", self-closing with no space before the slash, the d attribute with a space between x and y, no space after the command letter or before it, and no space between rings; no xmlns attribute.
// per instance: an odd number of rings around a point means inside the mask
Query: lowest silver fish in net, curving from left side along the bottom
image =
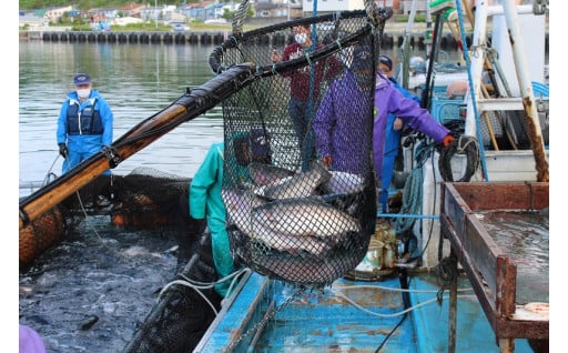
<svg viewBox="0 0 568 353"><path fill-rule="evenodd" d="M266 201L247 191L235 189L223 189L221 191L225 203L229 221L255 241L277 251L286 251L295 254L298 251L306 251L317 256L323 256L332 248L325 240L316 238L298 238L286 233L275 232L266 228L266 224L254 219L255 208L266 204Z"/></svg>

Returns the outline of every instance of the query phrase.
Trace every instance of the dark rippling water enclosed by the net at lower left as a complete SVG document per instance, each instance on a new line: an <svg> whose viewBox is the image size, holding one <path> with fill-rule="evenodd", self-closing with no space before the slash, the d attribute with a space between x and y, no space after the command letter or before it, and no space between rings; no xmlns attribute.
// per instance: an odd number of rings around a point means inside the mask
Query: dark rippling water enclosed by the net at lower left
<svg viewBox="0 0 568 353"><path fill-rule="evenodd" d="M20 323L48 352L121 352L172 281L176 242L168 233L83 220L20 274Z"/></svg>

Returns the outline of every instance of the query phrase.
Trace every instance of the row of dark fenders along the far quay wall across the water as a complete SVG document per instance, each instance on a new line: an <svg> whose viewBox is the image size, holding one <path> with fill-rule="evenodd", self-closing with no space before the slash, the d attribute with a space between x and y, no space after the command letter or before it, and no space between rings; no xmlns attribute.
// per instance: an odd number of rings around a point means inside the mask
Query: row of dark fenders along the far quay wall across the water
<svg viewBox="0 0 568 353"><path fill-rule="evenodd" d="M48 42L98 42L98 43L119 43L119 44L215 44L220 46L231 37L231 31L186 31L186 32L164 32L164 31L133 31L133 32L93 32L93 31L20 31L20 40L43 40ZM382 47L400 47L405 37L404 31L388 31L383 34ZM281 46L286 43L290 38L281 33L270 33L257 39L261 44ZM424 49L430 41L426 39L426 33L410 32L410 44ZM466 36L469 47L473 36ZM548 33L546 33L545 50L548 52ZM457 49L457 42L452 33L443 33L440 40L443 50Z"/></svg>

